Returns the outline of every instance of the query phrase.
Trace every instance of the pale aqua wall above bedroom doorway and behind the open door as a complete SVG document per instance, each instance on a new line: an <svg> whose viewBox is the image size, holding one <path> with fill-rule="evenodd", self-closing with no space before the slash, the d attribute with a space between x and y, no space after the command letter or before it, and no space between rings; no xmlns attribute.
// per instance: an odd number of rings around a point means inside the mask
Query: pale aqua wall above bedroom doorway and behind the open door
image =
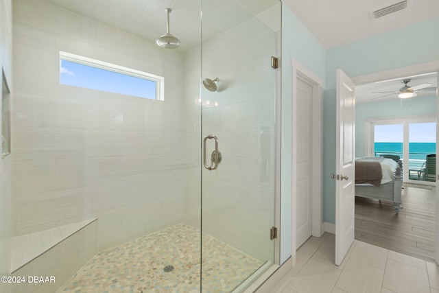
<svg viewBox="0 0 439 293"><path fill-rule="evenodd" d="M323 218L335 223L335 70L355 77L439 60L439 18L327 50L323 104ZM410 42L401 40L411 36Z"/></svg>

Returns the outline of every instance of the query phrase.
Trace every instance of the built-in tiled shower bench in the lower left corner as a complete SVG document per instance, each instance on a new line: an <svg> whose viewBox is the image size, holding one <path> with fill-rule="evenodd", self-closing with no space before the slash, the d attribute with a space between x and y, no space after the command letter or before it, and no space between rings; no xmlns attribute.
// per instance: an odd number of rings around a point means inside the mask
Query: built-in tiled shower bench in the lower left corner
<svg viewBox="0 0 439 293"><path fill-rule="evenodd" d="M54 277L56 283L12 284L12 292L56 292L97 251L97 218L16 236L12 239L12 276Z"/></svg>

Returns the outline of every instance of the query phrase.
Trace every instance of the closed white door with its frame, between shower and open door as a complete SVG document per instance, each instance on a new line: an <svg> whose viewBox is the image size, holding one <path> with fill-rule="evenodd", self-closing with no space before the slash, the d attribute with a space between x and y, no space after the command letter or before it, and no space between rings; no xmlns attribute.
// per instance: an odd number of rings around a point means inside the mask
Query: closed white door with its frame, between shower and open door
<svg viewBox="0 0 439 293"><path fill-rule="evenodd" d="M292 255L322 224L322 80L292 58ZM312 183L312 184L311 184Z"/></svg>

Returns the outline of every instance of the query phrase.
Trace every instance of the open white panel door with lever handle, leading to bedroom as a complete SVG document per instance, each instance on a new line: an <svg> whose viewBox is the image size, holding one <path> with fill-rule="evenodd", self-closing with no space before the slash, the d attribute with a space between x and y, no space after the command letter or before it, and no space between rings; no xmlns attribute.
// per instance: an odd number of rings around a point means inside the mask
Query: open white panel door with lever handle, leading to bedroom
<svg viewBox="0 0 439 293"><path fill-rule="evenodd" d="M337 69L335 176L335 264L340 266L354 241L355 84Z"/></svg>

